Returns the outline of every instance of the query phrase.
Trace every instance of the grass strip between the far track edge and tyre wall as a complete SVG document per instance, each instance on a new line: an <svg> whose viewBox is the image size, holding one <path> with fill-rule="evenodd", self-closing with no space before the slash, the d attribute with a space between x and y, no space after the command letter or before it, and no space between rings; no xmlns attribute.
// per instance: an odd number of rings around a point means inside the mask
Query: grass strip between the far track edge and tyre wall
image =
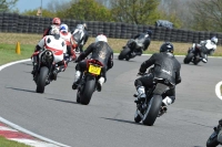
<svg viewBox="0 0 222 147"><path fill-rule="evenodd" d="M26 34L26 33L0 33L0 65L22 60L29 59L34 50L36 44L42 38L41 34ZM89 38L87 44L88 46L90 43L94 41L94 38ZM125 39L108 39L110 46L114 50L115 53L120 52L123 45L125 45ZM20 42L21 54L16 54L16 45L17 42ZM144 53L154 53L159 52L159 48L162 44L162 41L152 41L148 51ZM174 54L184 55L186 54L188 49L192 45L192 43L178 43L173 42L174 44ZM215 56L222 56L222 46L218 46L216 52L214 53Z"/></svg>

